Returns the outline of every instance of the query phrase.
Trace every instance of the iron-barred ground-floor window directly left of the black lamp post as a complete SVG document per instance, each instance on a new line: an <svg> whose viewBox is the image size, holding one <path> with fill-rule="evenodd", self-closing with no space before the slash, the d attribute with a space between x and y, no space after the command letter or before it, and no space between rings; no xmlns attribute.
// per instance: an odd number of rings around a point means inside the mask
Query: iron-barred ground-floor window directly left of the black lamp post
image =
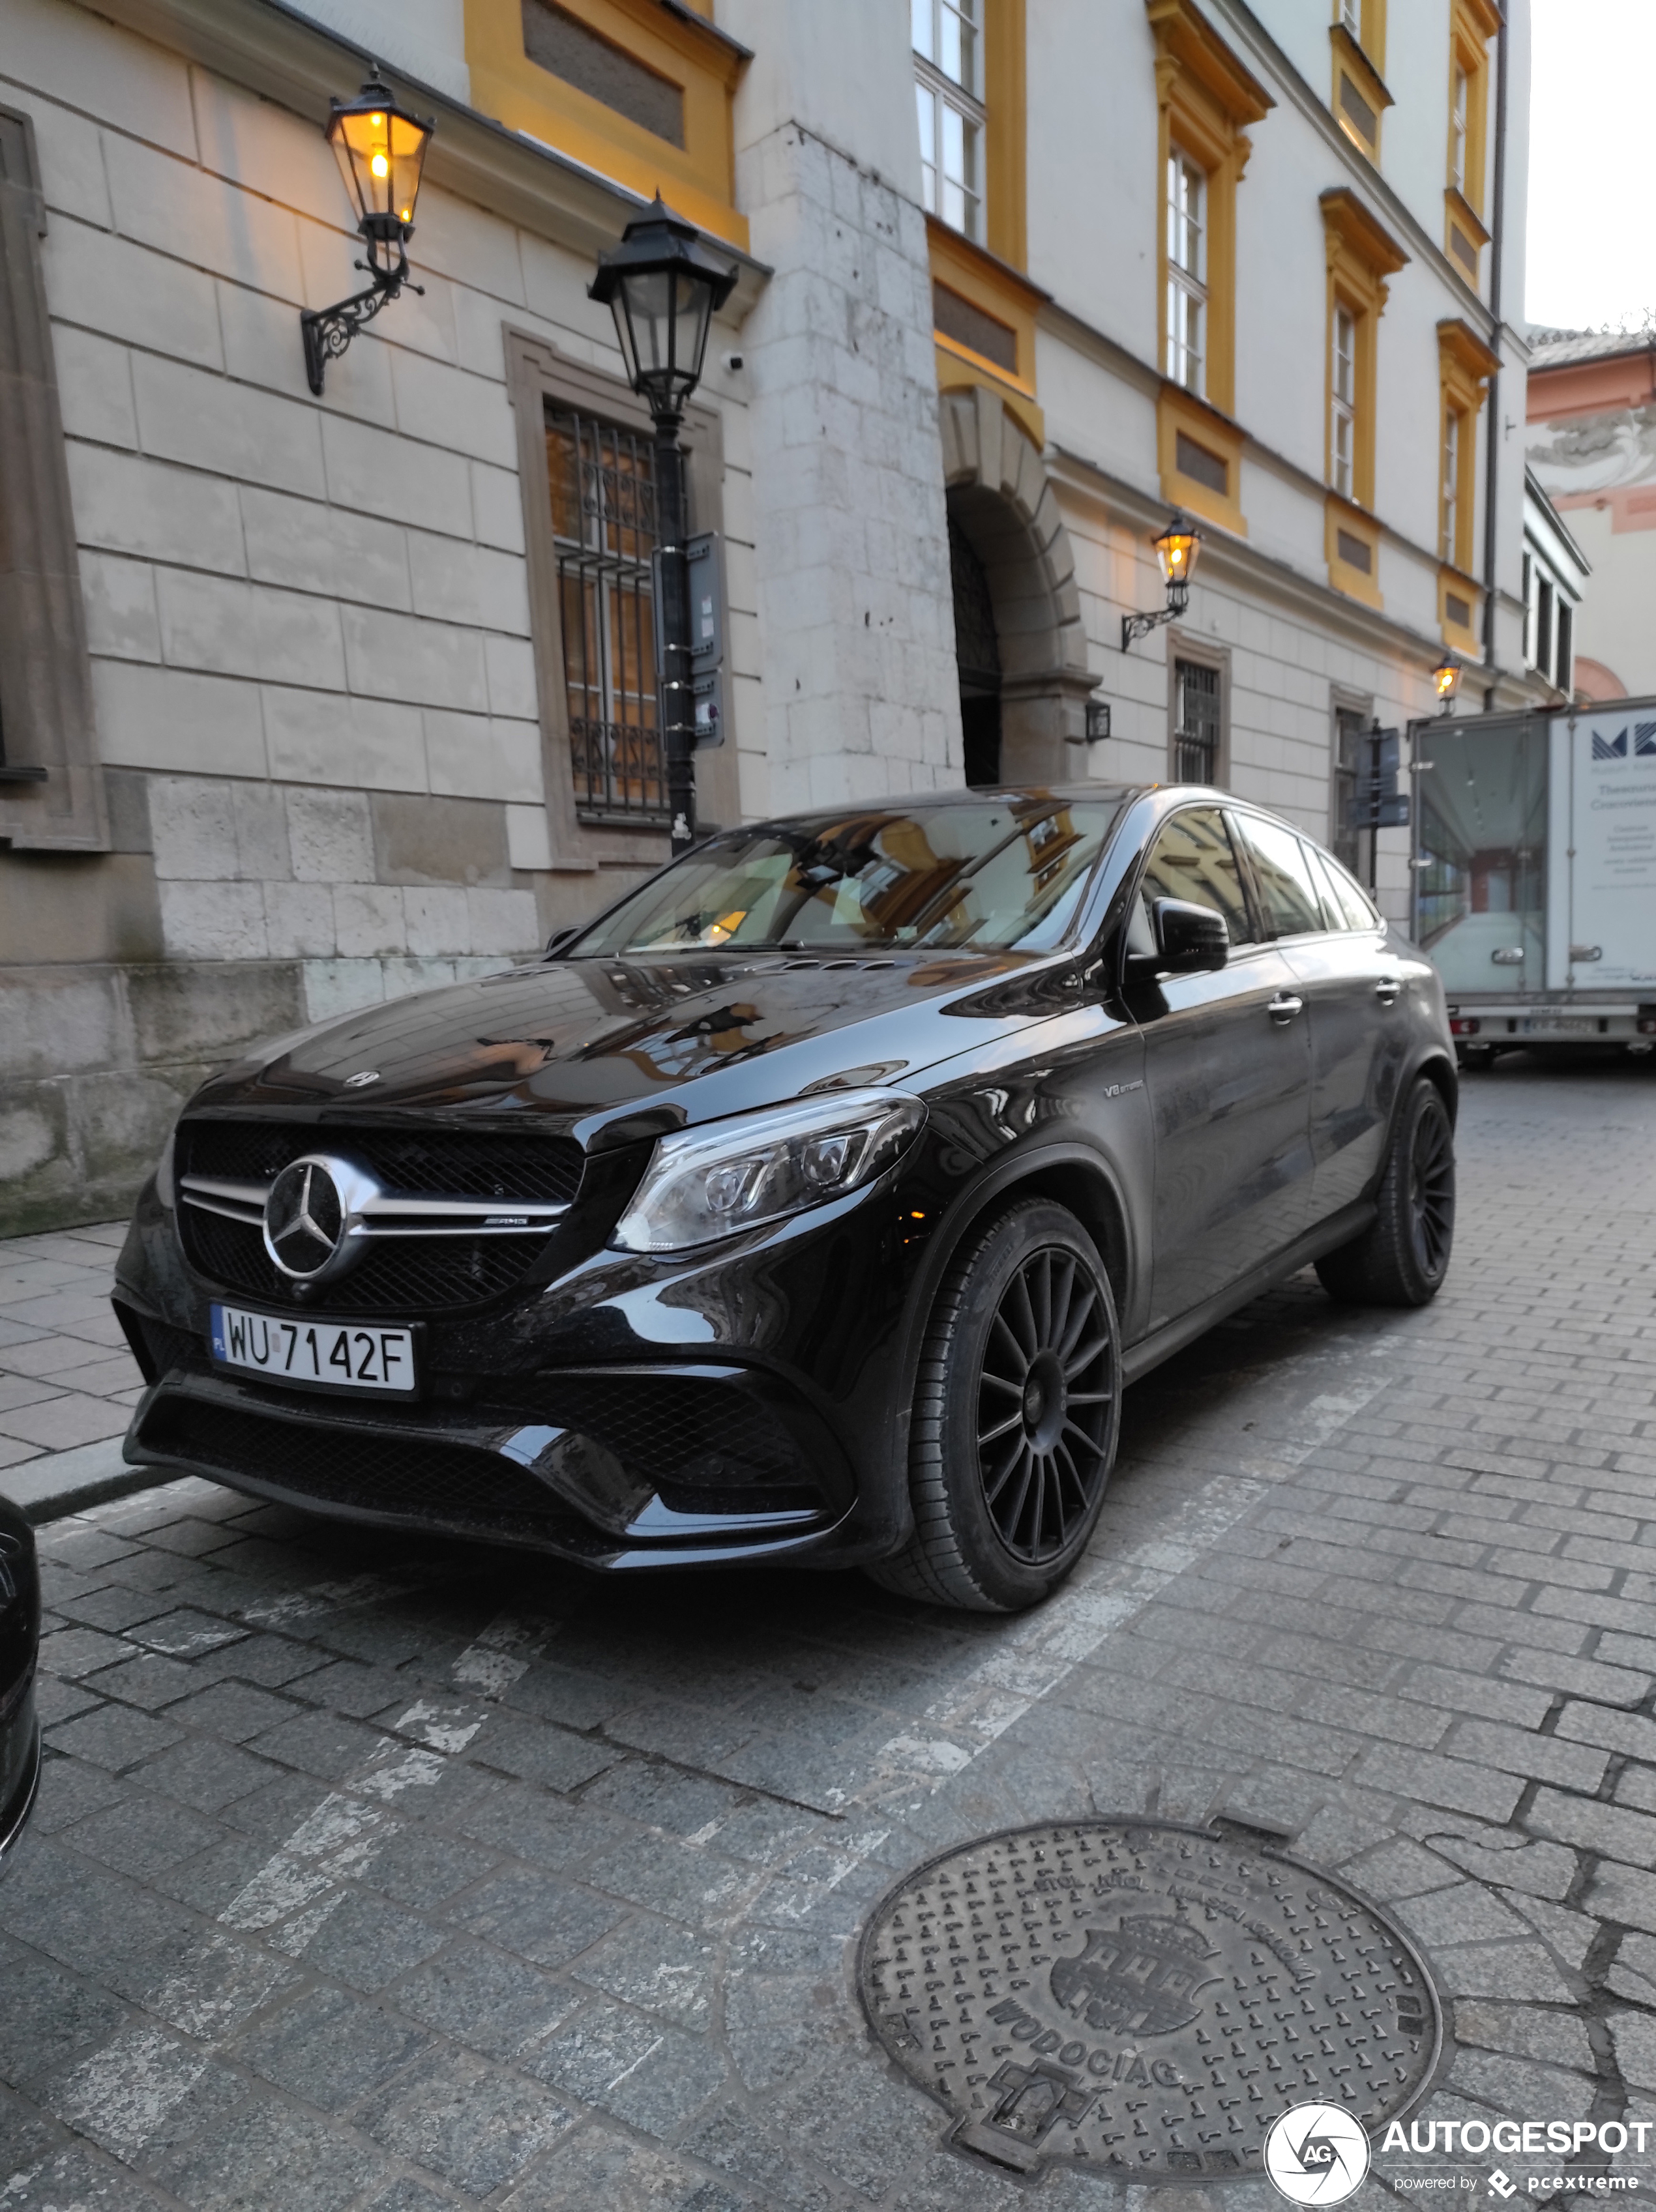
<svg viewBox="0 0 1656 2212"><path fill-rule="evenodd" d="M664 823L651 442L549 403L547 476L576 814L587 823Z"/></svg>

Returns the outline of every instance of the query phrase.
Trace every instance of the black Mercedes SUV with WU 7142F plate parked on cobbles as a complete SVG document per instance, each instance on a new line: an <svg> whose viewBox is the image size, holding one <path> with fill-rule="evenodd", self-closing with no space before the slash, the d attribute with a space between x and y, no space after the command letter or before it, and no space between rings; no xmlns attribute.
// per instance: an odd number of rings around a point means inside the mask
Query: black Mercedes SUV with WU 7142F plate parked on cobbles
<svg viewBox="0 0 1656 2212"><path fill-rule="evenodd" d="M711 838L547 958L226 1068L139 1197L135 1462L609 1571L1010 1610L1120 1391L1315 1261L1448 1267L1430 964L1196 787Z"/></svg>

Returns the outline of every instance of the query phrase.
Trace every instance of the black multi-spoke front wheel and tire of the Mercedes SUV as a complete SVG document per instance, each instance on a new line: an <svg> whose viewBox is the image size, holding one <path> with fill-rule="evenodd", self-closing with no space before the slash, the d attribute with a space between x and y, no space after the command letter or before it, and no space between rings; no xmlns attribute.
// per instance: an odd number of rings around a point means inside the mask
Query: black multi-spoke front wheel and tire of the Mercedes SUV
<svg viewBox="0 0 1656 2212"><path fill-rule="evenodd" d="M868 1568L970 1613L1038 1606L1087 1548L1120 1427L1120 1332L1076 1217L1023 1199L972 1232L936 1294L914 1383L914 1535Z"/></svg>

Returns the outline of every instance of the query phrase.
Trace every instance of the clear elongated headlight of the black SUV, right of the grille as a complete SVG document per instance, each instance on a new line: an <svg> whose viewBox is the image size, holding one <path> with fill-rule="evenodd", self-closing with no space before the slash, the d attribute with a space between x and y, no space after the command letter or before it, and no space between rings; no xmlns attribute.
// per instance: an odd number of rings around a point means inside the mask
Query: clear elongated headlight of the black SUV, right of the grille
<svg viewBox="0 0 1656 2212"><path fill-rule="evenodd" d="M923 1121L901 1091L830 1091L662 1137L611 1243L682 1252L826 1206L870 1183Z"/></svg>

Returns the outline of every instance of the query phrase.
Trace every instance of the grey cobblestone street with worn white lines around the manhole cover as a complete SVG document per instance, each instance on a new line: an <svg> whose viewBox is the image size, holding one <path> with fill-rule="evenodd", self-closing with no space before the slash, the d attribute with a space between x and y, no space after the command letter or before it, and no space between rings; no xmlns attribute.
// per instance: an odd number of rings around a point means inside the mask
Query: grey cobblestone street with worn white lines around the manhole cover
<svg viewBox="0 0 1656 2212"><path fill-rule="evenodd" d="M872 2053L850 1940L945 1845L1091 1812L1277 1823L1386 1900L1452 2015L1428 2112L1656 2112L1654 1139L1643 1066L1470 1079L1437 1305L1304 1276L1131 1391L1025 1619L199 1482L58 1522L0 2205L1023 2203Z"/></svg>

